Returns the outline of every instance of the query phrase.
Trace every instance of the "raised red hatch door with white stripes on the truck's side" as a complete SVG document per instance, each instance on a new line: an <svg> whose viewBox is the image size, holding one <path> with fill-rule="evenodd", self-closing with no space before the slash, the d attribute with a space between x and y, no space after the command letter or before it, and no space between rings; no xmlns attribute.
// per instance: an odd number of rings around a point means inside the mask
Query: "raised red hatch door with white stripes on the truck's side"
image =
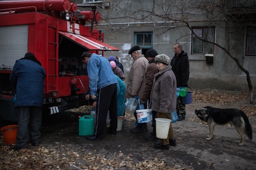
<svg viewBox="0 0 256 170"><path fill-rule="evenodd" d="M119 51L118 48L93 39L91 37L85 37L79 34L73 34L68 32L59 31L59 33L72 41L86 47L88 50L100 50L100 51Z"/></svg>

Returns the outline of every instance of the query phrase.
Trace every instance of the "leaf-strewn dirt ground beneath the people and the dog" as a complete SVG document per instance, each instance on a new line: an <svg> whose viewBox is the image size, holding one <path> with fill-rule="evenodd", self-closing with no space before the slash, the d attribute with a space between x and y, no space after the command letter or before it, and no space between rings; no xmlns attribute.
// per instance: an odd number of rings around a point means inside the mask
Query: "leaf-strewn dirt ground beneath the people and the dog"
<svg viewBox="0 0 256 170"><path fill-rule="evenodd" d="M116 135L105 132L104 139L90 141L79 136L78 116L84 107L55 115L44 116L41 144L28 145L20 152L0 138L1 169L255 169L256 139L246 139L240 147L238 133L231 125L216 126L211 141L205 140L208 126L195 115L204 106L238 108L249 117L256 135L256 106L249 104L244 91L201 90L193 92L193 103L186 105L186 118L173 124L177 147L156 150L154 142L144 139L146 133L130 133L135 118L126 115L121 131ZM0 127L10 124L0 122Z"/></svg>

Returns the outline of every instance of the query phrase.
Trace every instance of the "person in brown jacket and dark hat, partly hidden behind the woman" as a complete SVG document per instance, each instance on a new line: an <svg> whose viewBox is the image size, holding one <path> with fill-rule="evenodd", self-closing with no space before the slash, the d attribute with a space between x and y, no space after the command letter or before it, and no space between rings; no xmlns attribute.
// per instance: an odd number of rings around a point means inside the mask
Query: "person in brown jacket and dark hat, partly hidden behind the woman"
<svg viewBox="0 0 256 170"><path fill-rule="evenodd" d="M148 67L146 69L146 84L145 88L140 96L140 100L142 103L146 103L147 100L150 102L150 94L151 94L151 89L153 85L153 80L155 74L158 72L157 69L157 64L155 63L155 57L158 55L158 53L154 49L150 49L146 52L146 59L148 60ZM152 121L152 127L153 127L153 132L150 133L149 135L145 136L146 140L154 141L157 139L156 137L156 111L152 111L153 114L153 121Z"/></svg>

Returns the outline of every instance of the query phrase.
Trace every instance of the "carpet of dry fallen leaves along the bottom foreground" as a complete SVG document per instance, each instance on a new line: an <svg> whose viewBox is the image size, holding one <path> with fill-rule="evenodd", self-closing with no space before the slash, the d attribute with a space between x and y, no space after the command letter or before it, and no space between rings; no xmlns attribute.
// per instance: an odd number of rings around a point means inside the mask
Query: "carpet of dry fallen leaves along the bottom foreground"
<svg viewBox="0 0 256 170"><path fill-rule="evenodd" d="M113 159L104 155L90 153L86 150L77 152L67 145L55 144L49 147L29 146L26 151L10 151L10 145L0 140L0 167L1 169L93 169L111 170L127 167L129 169L183 169L182 166L169 167L163 160L144 160L134 162L131 154L119 153ZM117 159L117 157L121 157Z"/></svg>

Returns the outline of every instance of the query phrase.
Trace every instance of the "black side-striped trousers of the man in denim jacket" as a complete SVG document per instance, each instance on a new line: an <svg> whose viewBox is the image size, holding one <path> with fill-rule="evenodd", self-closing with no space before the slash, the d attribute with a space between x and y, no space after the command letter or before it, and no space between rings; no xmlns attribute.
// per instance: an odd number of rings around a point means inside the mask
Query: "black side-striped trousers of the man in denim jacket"
<svg viewBox="0 0 256 170"><path fill-rule="evenodd" d="M95 137L103 139L106 116L110 112L110 132L117 128L117 85L112 84L97 90Z"/></svg>

